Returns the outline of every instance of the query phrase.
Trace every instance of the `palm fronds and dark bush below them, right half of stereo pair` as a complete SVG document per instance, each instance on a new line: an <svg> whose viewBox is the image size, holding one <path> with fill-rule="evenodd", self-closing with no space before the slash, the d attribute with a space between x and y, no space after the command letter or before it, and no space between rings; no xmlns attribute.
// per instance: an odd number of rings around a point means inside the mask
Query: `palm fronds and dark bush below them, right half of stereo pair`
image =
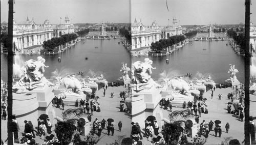
<svg viewBox="0 0 256 145"><path fill-rule="evenodd" d="M169 113L170 123L164 124L162 134L167 144L177 144L178 142L187 142L186 137L182 137L185 120L191 118L190 110L175 110Z"/></svg>

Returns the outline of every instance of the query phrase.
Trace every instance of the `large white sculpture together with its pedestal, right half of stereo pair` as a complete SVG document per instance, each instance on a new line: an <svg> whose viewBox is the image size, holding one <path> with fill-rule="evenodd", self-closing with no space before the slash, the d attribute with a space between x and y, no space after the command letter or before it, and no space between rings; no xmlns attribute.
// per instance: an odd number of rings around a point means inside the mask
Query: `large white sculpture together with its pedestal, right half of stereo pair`
<svg viewBox="0 0 256 145"><path fill-rule="evenodd" d="M161 86L152 78L152 61L148 58L145 62L137 61L132 64L132 121L144 124L144 120L149 115L154 115L157 120L160 120L159 126L163 125L162 111L159 107L161 100Z"/></svg>

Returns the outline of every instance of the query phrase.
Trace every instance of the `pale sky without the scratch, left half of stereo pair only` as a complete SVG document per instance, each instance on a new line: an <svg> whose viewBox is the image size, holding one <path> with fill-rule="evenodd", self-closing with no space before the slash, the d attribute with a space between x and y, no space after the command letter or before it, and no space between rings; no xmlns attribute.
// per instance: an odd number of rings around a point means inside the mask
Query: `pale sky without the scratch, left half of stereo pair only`
<svg viewBox="0 0 256 145"><path fill-rule="evenodd" d="M64 23L65 16L71 23L131 22L130 0L16 0L14 19L26 21L34 18L42 24ZM61 19L60 19L61 17ZM1 22L8 22L8 0L1 0Z"/></svg>

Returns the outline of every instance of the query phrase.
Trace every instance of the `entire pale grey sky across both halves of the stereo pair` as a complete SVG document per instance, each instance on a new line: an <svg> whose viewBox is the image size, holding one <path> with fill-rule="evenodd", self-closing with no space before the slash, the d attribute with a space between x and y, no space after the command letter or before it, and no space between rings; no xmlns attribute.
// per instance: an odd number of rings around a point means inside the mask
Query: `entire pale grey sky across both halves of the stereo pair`
<svg viewBox="0 0 256 145"><path fill-rule="evenodd" d="M52 24L64 23L66 15L71 23L134 22L145 25L154 20L159 25L172 23L177 17L185 24L244 23L245 0L16 0L14 19L25 21L34 17L37 24L46 18ZM256 24L256 1L252 1L251 20ZM168 19L170 19L168 21ZM8 21L8 0L1 0L1 22Z"/></svg>

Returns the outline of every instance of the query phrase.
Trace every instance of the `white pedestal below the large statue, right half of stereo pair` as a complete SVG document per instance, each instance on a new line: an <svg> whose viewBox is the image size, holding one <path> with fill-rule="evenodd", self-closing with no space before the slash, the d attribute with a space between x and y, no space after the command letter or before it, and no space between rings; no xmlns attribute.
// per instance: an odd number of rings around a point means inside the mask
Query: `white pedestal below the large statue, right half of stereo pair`
<svg viewBox="0 0 256 145"><path fill-rule="evenodd" d="M132 92L132 122L138 122L141 127L150 115L156 117L159 128L163 125L163 114L159 107L161 100L160 90L152 88L140 92Z"/></svg>

